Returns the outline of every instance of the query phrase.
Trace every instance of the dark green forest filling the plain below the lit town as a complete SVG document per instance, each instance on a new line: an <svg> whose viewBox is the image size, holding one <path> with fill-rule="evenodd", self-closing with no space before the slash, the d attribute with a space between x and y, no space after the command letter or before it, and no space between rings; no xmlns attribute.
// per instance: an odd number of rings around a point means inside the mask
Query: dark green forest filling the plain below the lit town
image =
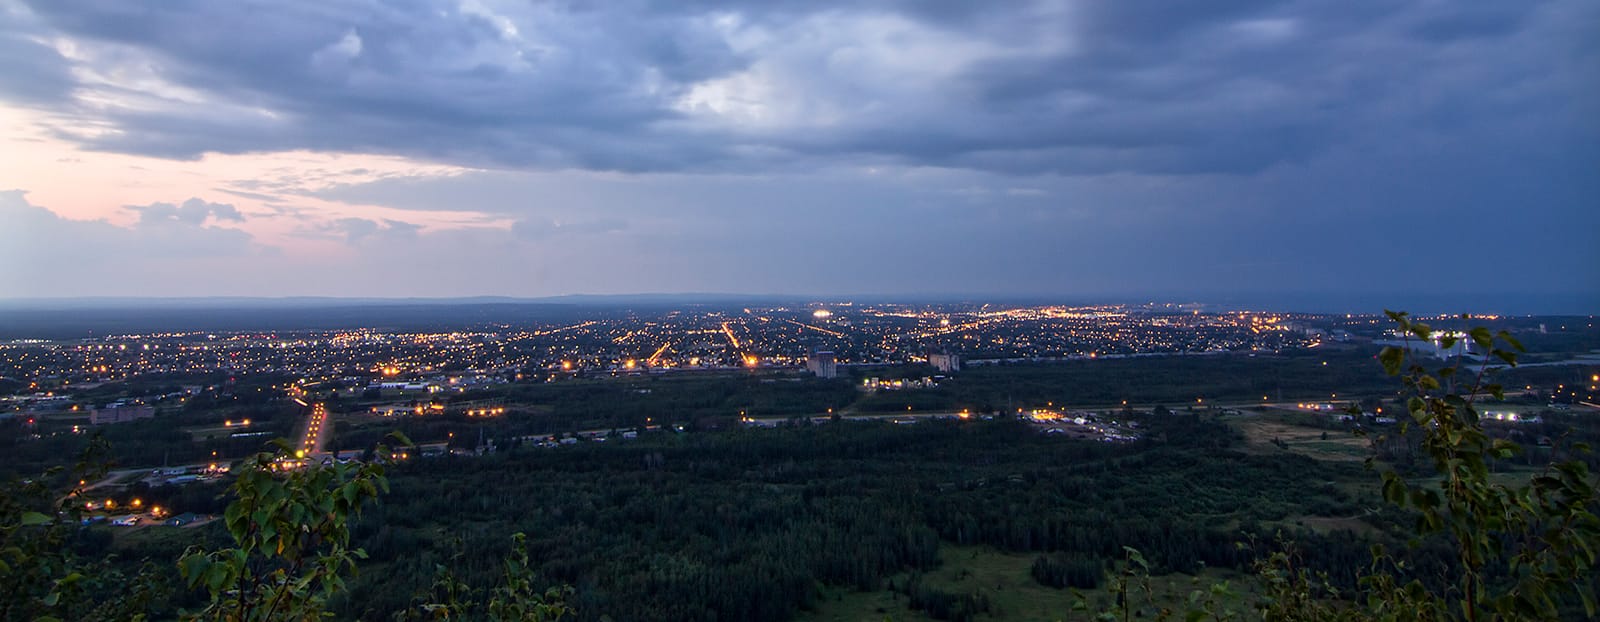
<svg viewBox="0 0 1600 622"><path fill-rule="evenodd" d="M1234 451L1198 417L1152 419L1128 446L1038 435L1014 421L826 424L419 461L357 526L371 560L341 616L387 619L451 568L490 584L526 532L546 584L576 588L582 619L789 619L821 585L878 590L938 566L939 544L1051 555L1035 576L1083 585L1123 545L1160 571L1248 568L1274 526L1306 507L1354 515L1331 480L1362 476L1294 456ZM1354 467L1352 467L1354 468ZM1294 534L1307 561L1352 582L1354 534ZM1069 579L1070 577L1070 579ZM893 588L939 617L981 593Z"/></svg>

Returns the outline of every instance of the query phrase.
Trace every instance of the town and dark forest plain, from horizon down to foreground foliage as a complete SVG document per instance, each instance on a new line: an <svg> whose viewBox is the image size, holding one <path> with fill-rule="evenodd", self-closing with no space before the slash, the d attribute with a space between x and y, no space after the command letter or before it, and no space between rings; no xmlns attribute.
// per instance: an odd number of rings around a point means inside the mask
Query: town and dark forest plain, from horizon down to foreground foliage
<svg viewBox="0 0 1600 622"><path fill-rule="evenodd" d="M518 312L526 318L504 320ZM1482 427L1526 449L1496 476L1592 438L1600 413L1590 317L1427 317L1416 320L1437 331L1419 341L1384 315L1184 304L595 305L498 309L494 320L437 309L413 325L374 312L366 326L317 313L286 313L282 329L221 329L192 310L141 317L171 326L162 331L106 329L122 321L106 313L91 334L64 318L70 329L0 342L0 476L38 481L93 464L59 481L72 489L61 516L141 560L214 537L230 486L253 468L288 481L381 462L394 494L363 518L362 545L389 564L371 576L411 584L422 574L403 560L424 550L416 542L486 518L528 529L549 558L566 555L573 529L610 537L699 512L702 526L688 531L712 534L742 507L758 516L746 524L768 526L811 512L813 496L890 499L947 521L926 529L928 542L938 532L963 547L942 572L962 577L963 560L981 560L1000 568L982 585L1011 580L1006 590L1022 593L1054 580L1056 558L974 553L963 540L1050 532L979 536L1019 512L1067 526L1058 507L1082 502L1085 542L1125 524L1149 531L1118 536L1126 542L1166 542L1178 523L1163 521L1184 502L1205 512L1184 524L1210 524L1218 510L1274 529L1384 524L1368 523L1378 497L1358 465L1426 459L1418 427L1402 425L1410 416L1378 360L1384 347L1504 384L1502 398L1478 406ZM1485 352L1469 326L1525 345L1518 365ZM672 478L678 496L662 492ZM717 500L696 510L701 499ZM774 499L792 505L758 510ZM632 513L643 504L662 505ZM862 507L861 526L893 515ZM584 518L595 508L619 510ZM525 528L530 516L546 523ZM794 534L832 537L837 516ZM1214 539L1218 550L1235 550L1232 537ZM856 544L843 547L840 560L856 560ZM1171 560L1179 553L1190 555ZM1085 560L1082 585L1094 587L1107 566ZM1048 590L1029 592L1042 608L1059 604L1059 585L1037 590Z"/></svg>

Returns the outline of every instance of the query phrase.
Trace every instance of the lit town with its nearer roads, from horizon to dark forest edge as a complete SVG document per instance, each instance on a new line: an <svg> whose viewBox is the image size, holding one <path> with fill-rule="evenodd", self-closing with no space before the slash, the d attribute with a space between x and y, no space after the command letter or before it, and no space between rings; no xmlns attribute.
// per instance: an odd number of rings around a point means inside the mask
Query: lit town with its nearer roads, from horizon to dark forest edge
<svg viewBox="0 0 1600 622"><path fill-rule="evenodd" d="M1461 318L1435 320L1445 326ZM1530 366L1557 371L1539 376L1549 379L1541 385L1523 385L1522 406L1490 409L1496 422L1536 424L1547 409L1597 403L1600 376L1586 369L1600 366L1600 355L1582 349L1582 339L1594 336L1592 318L1470 320L1507 323L1530 341L1552 336L1554 328L1552 342L1578 344L1576 350L1533 353ZM1371 352L1386 344L1406 344L1438 360L1485 360L1466 345L1408 342L1389 326L1381 315L1210 312L1179 304L835 301L603 309L573 321L483 323L450 331L165 331L16 339L0 344L0 421L8 422L22 448L48 448L61 437L126 425L125 435L134 437L128 437L133 441L125 441L125 449L138 453L128 459L134 464L125 464L131 468L120 473L122 486L181 486L226 476L230 459L272 438L293 443L299 461L358 459L381 430L410 419L442 424L408 424L418 445L397 449L394 459L480 454L507 443L560 448L654 432L838 419L915 424L1008 416L1046 435L1125 443L1141 433L1138 417L1130 416L1158 414L1165 406L1154 400L1130 405L1126 398L1058 403L1048 398L1059 395L1051 385L1008 385L1002 403L995 384L1006 376L1000 368L1264 357L1251 363L1251 374L1288 369L1283 361L1322 374L1333 360L1373 376ZM1573 342L1573 334L1589 337ZM976 369L1002 374L946 387ZM654 379L678 382L651 384ZM1195 382L1211 387L1224 381L1213 376ZM1315 393L1293 382L1283 382L1291 385L1291 398L1280 384L1261 390L1269 395L1235 390L1222 393L1222 400L1195 395L1176 401L1219 413L1278 408L1334 424L1395 422L1371 392L1365 400L1360 392L1341 398L1339 390ZM1182 385L1176 379L1163 384ZM699 398L706 393L731 397L714 403ZM686 403L691 406L680 406ZM1349 414L1352 406L1363 411L1363 421ZM512 422L478 424L502 419Z"/></svg>

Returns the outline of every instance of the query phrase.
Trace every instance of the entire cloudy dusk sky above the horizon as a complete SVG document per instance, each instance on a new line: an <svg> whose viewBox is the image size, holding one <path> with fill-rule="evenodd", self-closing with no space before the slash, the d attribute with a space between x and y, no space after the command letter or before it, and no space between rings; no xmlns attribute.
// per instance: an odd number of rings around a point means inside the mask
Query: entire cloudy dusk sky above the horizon
<svg viewBox="0 0 1600 622"><path fill-rule="evenodd" d="M0 0L0 299L1600 312L1595 75L1592 0Z"/></svg>

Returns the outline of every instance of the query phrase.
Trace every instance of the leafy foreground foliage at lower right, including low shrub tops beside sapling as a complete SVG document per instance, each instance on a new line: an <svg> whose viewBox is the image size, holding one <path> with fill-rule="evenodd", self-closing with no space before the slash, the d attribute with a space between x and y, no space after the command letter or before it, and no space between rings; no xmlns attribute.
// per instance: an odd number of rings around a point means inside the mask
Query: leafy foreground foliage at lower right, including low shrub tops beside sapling
<svg viewBox="0 0 1600 622"><path fill-rule="evenodd" d="M1362 593L1339 593L1326 576L1299 564L1293 545L1280 542L1256 564L1262 593L1253 609L1272 620L1558 620L1576 601L1582 614L1595 617L1592 569L1600 555L1600 496L1597 481L1582 461L1552 462L1530 481L1517 486L1490 478L1494 461L1522 453L1512 441L1490 437L1478 417L1485 398L1504 398L1501 385L1490 382L1491 361L1517 365L1522 344L1509 333L1491 334L1472 328L1462 336L1437 334L1429 325L1403 312L1387 312L1406 341L1437 341L1451 349L1470 339L1485 352L1475 369L1466 358L1437 369L1424 366L1406 345L1379 353L1384 371L1398 376L1405 387L1400 435L1421 432L1421 453L1437 480L1408 481L1395 470L1382 472L1382 494L1390 504L1416 513L1413 542L1443 537L1454 568L1443 582L1408 577L1405 561L1373 550L1373 563L1360 577ZM1462 317L1466 320L1466 317ZM1352 408L1360 414L1358 408ZM1574 443L1576 453L1589 448ZM1376 467L1374 461L1368 461ZM1136 550L1128 550L1123 569L1114 577L1118 611L1099 619L1126 619L1126 603L1136 585L1146 585L1147 566ZM1440 585L1443 584L1443 587ZM1240 620L1238 595L1227 584L1210 593L1190 595L1189 620ZM1080 608L1083 601L1080 600ZM1174 612L1158 609L1157 619Z"/></svg>

